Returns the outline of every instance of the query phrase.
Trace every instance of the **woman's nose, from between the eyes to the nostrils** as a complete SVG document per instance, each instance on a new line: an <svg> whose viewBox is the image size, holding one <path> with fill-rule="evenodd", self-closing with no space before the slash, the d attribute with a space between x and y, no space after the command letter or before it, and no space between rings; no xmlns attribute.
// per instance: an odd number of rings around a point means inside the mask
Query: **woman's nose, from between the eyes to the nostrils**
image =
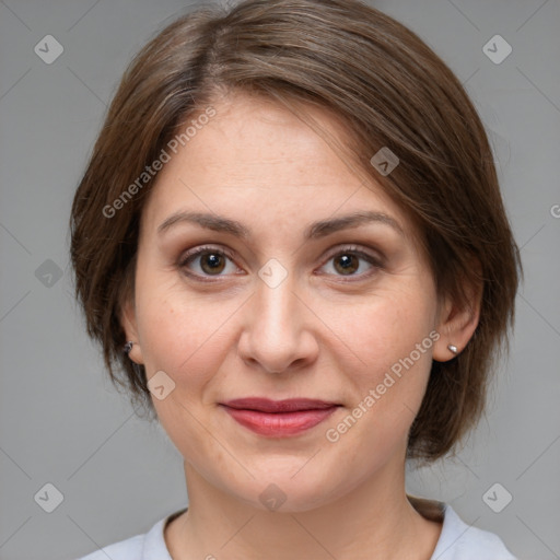
<svg viewBox="0 0 560 560"><path fill-rule="evenodd" d="M273 288L257 279L237 343L241 358L253 369L291 372L316 360L319 319L296 289L290 275Z"/></svg>

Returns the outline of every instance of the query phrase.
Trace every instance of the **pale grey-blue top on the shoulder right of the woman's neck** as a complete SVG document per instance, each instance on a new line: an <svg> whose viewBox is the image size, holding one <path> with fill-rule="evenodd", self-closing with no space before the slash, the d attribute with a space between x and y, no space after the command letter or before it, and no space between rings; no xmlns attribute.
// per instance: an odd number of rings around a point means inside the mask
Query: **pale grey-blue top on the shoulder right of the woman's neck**
<svg viewBox="0 0 560 560"><path fill-rule="evenodd" d="M498 535L467 525L450 504L442 505L442 533L431 560L516 560Z"/></svg>

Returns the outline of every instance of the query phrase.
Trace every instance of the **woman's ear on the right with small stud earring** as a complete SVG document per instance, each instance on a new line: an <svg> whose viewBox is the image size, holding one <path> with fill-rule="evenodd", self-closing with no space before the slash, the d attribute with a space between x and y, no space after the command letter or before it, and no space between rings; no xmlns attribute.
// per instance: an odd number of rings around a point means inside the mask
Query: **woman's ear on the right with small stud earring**
<svg viewBox="0 0 560 560"><path fill-rule="evenodd" d="M464 282L465 303L459 304L448 296L440 306L436 327L440 339L435 342L433 350L433 359L438 362L446 362L455 358L456 354L447 348L448 345L457 347L458 355L477 328L480 318L483 281L480 262L474 260L472 267L477 270L477 280L476 283Z"/></svg>

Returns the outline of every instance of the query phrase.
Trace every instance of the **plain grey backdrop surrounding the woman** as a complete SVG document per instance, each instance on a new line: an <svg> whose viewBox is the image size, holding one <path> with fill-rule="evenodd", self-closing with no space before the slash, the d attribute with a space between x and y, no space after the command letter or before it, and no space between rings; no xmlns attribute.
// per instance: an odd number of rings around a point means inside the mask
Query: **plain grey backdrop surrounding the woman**
<svg viewBox="0 0 560 560"><path fill-rule="evenodd" d="M526 268L487 419L457 459L410 472L408 491L447 501L522 559L560 558L560 3L372 4L466 83ZM68 268L71 198L106 104L131 56L185 5L0 1L2 560L74 559L145 532L187 501L178 452L133 416L86 339ZM49 34L65 49L51 65L34 52ZM482 51L495 34L513 48L499 65ZM34 499L47 482L63 494L52 513ZM482 499L495 482L513 497L500 513Z"/></svg>

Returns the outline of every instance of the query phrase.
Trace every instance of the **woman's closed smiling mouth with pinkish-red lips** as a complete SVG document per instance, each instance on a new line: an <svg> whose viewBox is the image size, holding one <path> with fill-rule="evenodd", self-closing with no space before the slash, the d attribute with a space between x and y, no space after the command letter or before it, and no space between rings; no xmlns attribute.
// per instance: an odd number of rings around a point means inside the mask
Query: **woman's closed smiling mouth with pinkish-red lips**
<svg viewBox="0 0 560 560"><path fill-rule="evenodd" d="M240 398L220 402L220 407L237 423L269 438L288 438L305 432L326 420L340 406L307 398Z"/></svg>

